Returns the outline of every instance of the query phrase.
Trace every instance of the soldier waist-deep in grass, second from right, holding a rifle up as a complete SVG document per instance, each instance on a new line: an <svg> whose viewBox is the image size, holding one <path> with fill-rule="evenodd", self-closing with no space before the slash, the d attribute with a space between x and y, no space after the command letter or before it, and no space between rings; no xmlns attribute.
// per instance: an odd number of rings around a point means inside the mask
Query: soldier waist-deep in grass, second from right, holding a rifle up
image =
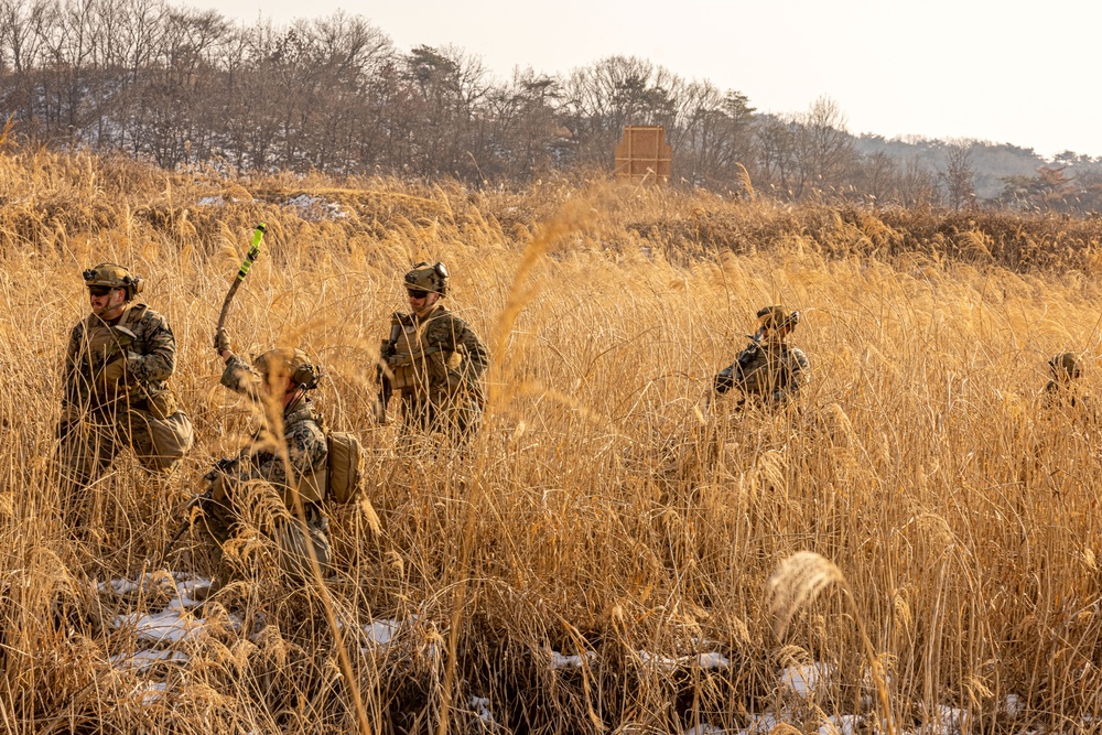
<svg viewBox="0 0 1102 735"><path fill-rule="evenodd" d="M781 407L799 392L807 377L808 356L788 344L789 333L799 324L800 313L787 314L780 305L758 311L758 328L735 361L713 380L717 396L732 388L742 392L738 406L747 401L760 407Z"/></svg>

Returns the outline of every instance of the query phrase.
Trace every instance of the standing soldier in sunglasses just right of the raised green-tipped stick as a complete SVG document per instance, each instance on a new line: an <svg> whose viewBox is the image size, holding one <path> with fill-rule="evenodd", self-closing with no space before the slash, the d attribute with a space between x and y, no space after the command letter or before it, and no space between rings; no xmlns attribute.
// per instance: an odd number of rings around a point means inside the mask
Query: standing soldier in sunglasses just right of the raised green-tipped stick
<svg viewBox="0 0 1102 735"><path fill-rule="evenodd" d="M385 421L391 392L401 393L408 430L441 432L465 440L485 401L486 346L441 300L447 295L443 263L420 262L406 273L410 313L395 313L382 342L378 419Z"/></svg>

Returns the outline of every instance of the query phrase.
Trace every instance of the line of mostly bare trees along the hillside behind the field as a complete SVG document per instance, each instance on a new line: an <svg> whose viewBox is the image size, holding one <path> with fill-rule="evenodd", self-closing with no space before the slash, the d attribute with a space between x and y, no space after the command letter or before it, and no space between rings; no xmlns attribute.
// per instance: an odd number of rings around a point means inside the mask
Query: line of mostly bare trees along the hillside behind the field
<svg viewBox="0 0 1102 735"><path fill-rule="evenodd" d="M166 169L525 183L611 169L625 125L662 125L677 185L907 207L991 195L976 193L982 144L893 154L851 134L830 99L761 115L738 91L620 56L499 79L461 48L404 52L343 13L277 26L160 0L0 0L0 110L25 139ZM1102 210L1102 161L1069 155L991 201Z"/></svg>

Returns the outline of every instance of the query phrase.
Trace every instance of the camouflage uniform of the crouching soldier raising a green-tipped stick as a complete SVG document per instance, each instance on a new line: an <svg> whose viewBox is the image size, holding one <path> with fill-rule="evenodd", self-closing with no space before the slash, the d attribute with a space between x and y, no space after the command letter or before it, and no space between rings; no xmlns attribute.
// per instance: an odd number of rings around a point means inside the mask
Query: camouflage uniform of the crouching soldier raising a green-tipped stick
<svg viewBox="0 0 1102 735"><path fill-rule="evenodd" d="M295 355L302 353L295 350ZM222 385L267 409L259 393L262 381L260 374L236 356L229 358L222 375ZM248 494L244 491L246 484L250 480L266 484L280 494L280 499L290 511L290 518L276 521L280 566L291 579L301 582L310 575L311 551L323 571L332 559L327 537L329 521L322 511L328 457L325 423L310 398L303 394L289 403L281 417L267 417L266 412L264 424L236 460L207 475L212 480L210 497L201 504L203 521L199 527L212 542L216 562L220 562L222 547L231 538L234 526L241 515L239 511L244 510L237 504L247 498ZM287 446L285 462L282 452L272 447L280 425ZM298 518L295 495L302 501L305 529Z"/></svg>

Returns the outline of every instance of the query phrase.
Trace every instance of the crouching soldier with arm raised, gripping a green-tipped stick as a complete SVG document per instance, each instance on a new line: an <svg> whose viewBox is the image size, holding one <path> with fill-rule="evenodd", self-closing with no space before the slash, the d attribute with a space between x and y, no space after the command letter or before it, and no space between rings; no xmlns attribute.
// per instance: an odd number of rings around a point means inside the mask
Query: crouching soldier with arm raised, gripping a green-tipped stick
<svg viewBox="0 0 1102 735"><path fill-rule="evenodd" d="M199 502L199 532L220 568L223 547L239 520L255 516L274 493L285 512L273 514L266 530L276 541L280 568L302 582L311 573L311 556L321 570L332 558L322 508L328 458L325 421L309 396L321 374L301 349L271 349L249 365L230 349L225 331L215 336L215 348L226 364L222 385L250 399L263 424L237 458L220 462L205 476L210 485Z"/></svg>

